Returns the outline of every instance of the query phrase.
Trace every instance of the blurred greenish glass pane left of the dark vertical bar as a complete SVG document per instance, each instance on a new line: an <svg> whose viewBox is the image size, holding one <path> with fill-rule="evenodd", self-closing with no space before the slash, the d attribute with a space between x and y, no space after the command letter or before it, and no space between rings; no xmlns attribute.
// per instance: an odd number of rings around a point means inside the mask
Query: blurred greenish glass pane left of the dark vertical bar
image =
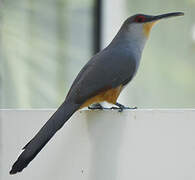
<svg viewBox="0 0 195 180"><path fill-rule="evenodd" d="M1 108L57 107L93 52L93 1L6 0Z"/></svg>

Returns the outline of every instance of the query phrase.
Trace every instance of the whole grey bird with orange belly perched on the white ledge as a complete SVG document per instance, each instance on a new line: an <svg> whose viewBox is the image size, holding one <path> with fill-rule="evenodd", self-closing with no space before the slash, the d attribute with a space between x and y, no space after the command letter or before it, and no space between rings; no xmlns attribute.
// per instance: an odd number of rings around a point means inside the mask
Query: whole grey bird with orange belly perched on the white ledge
<svg viewBox="0 0 195 180"><path fill-rule="evenodd" d="M78 110L103 109L100 103L128 109L117 102L121 91L135 76L145 43L153 25L161 19L182 16L183 12L161 15L136 14L128 17L118 33L102 51L95 54L73 81L57 111L22 149L10 174L21 172L36 157L47 142Z"/></svg>

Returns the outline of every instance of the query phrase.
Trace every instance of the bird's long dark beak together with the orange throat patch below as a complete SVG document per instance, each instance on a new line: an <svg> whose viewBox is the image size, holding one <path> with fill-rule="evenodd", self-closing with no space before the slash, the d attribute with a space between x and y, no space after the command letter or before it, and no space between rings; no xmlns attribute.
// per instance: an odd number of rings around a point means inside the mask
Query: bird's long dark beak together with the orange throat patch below
<svg viewBox="0 0 195 180"><path fill-rule="evenodd" d="M167 13L167 14L162 14L158 16L151 16L146 23L143 25L143 31L146 37L149 36L151 28L156 24L159 20L165 19L165 18L170 18L170 17L175 17L175 16L183 16L184 13L182 12L174 12L174 13Z"/></svg>

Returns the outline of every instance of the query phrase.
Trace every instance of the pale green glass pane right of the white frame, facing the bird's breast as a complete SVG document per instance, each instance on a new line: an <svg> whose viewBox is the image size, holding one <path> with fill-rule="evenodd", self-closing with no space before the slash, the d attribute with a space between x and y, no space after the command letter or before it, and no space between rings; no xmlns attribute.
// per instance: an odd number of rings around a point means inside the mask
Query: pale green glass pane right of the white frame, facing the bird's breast
<svg viewBox="0 0 195 180"><path fill-rule="evenodd" d="M184 17L156 24L136 78L124 91L138 107L195 107L195 0L126 0L126 15L183 11Z"/></svg>

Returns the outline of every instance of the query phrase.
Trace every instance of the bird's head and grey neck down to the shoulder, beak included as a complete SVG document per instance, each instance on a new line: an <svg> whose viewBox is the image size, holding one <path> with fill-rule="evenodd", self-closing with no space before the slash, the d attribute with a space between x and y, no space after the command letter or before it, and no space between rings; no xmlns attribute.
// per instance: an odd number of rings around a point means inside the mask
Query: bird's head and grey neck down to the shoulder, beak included
<svg viewBox="0 0 195 180"><path fill-rule="evenodd" d="M140 59L146 40L150 34L152 26L161 19L183 16L182 12L174 12L157 16L136 14L126 19L119 32L109 46L120 46L129 48L137 59Z"/></svg>

